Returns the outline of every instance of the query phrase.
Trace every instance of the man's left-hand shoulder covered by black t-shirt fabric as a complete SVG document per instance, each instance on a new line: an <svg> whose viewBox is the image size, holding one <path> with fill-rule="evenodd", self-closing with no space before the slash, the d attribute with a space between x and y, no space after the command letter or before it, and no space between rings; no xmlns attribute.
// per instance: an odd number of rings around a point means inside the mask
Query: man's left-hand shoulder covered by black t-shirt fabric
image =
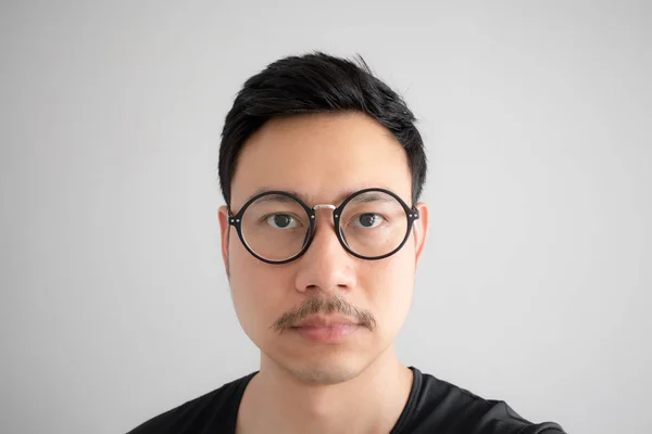
<svg viewBox="0 0 652 434"><path fill-rule="evenodd" d="M235 424L240 398L254 374L226 383L220 388L165 411L138 425L128 434L192 434L204 432L206 429L225 430L231 419Z"/></svg>

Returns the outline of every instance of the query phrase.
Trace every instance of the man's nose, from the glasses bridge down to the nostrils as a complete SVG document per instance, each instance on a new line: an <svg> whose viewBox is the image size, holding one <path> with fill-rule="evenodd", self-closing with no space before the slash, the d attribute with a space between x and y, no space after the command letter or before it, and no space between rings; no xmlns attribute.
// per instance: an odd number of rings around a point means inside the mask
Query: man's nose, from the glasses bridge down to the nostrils
<svg viewBox="0 0 652 434"><path fill-rule="evenodd" d="M297 291L324 291L341 295L355 285L355 258L337 239L333 210L316 209L315 234L308 251L298 259Z"/></svg>

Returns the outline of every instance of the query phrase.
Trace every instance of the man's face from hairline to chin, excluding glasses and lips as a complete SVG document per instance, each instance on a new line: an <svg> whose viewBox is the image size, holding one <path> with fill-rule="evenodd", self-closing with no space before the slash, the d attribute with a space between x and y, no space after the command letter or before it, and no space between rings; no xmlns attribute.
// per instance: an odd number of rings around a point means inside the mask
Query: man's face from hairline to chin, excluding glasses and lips
<svg viewBox="0 0 652 434"><path fill-rule="evenodd" d="M338 206L347 192L365 188L390 190L412 205L408 157L389 130L358 113L276 118L240 153L231 209L239 212L261 190L296 191L312 207ZM302 381L334 384L356 376L383 355L412 301L428 217L425 205L417 207L421 219L405 245L378 260L347 253L337 239L333 212L318 209L310 248L283 265L253 257L222 207L222 251L234 305L242 329L264 356ZM351 320L366 327L354 327L352 334L335 341L315 341L291 329L313 315L308 314L311 308L323 317L350 308ZM279 323L285 324L280 330Z"/></svg>

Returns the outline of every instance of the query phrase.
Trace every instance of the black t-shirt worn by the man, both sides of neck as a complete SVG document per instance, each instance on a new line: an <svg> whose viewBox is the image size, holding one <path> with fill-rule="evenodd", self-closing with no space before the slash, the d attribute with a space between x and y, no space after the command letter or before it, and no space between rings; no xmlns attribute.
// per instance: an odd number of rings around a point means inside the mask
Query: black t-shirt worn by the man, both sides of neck
<svg viewBox="0 0 652 434"><path fill-rule="evenodd" d="M432 375L414 374L410 397L390 434L563 434L534 424L505 403L486 400ZM234 434L240 399L255 372L160 414L128 434Z"/></svg>

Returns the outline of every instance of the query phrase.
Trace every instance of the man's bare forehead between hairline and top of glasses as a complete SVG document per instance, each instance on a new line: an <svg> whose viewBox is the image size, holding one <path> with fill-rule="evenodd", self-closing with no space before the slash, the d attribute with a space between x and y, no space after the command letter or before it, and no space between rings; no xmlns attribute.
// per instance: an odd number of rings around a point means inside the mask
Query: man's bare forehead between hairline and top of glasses
<svg viewBox="0 0 652 434"><path fill-rule="evenodd" d="M411 202L408 156L391 131L360 113L297 115L272 119L247 140L231 206L261 190L299 192L316 204L371 187Z"/></svg>

